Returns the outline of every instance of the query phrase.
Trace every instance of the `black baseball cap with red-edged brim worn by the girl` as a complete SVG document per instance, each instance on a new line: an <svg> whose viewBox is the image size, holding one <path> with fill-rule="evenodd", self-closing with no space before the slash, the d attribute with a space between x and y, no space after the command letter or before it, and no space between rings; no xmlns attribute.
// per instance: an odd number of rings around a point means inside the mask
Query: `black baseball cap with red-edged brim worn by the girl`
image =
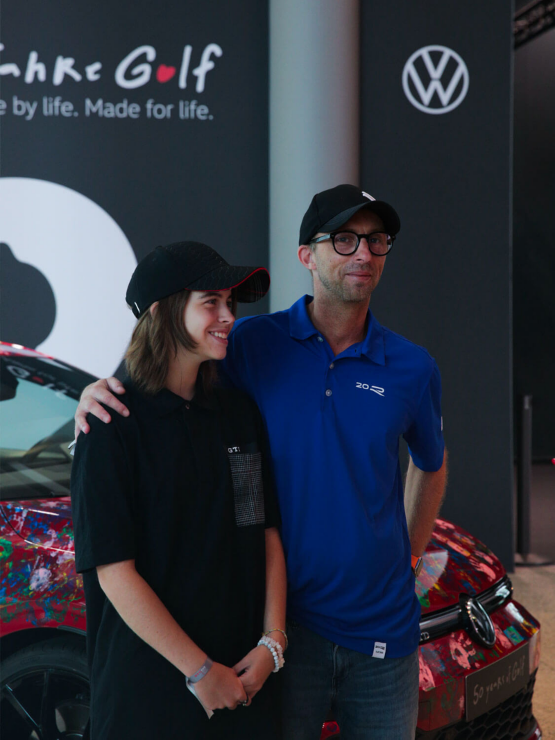
<svg viewBox="0 0 555 740"><path fill-rule="evenodd" d="M234 267L215 249L199 241L157 246L136 266L125 300L137 318L155 303L180 290L235 288L240 303L254 303L268 292L265 267Z"/></svg>

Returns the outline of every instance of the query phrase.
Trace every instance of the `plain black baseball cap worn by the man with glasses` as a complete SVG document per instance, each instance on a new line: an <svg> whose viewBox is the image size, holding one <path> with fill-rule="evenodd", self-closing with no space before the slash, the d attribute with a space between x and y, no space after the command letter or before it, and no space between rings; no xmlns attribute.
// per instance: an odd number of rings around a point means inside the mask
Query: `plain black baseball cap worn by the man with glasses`
<svg viewBox="0 0 555 740"><path fill-rule="evenodd" d="M395 236L401 228L397 211L386 203L377 201L356 185L337 185L317 192L300 224L299 245L308 244L317 232L332 232L349 221L361 208L380 216L389 235Z"/></svg>

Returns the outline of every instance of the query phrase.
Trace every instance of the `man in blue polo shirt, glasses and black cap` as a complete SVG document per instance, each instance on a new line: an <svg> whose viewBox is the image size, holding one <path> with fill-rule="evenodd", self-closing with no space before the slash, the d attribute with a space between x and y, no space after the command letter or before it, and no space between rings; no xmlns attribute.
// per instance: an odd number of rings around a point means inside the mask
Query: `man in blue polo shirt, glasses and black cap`
<svg viewBox="0 0 555 740"><path fill-rule="evenodd" d="M317 740L330 709L347 740L414 738L411 566L431 535L446 464L436 363L369 311L399 229L388 203L355 186L318 193L298 248L314 298L239 320L229 336L225 371L263 414L280 502L287 740ZM75 416L81 430L87 411L110 420L98 400L124 411L98 381ZM411 453L405 508L401 435Z"/></svg>

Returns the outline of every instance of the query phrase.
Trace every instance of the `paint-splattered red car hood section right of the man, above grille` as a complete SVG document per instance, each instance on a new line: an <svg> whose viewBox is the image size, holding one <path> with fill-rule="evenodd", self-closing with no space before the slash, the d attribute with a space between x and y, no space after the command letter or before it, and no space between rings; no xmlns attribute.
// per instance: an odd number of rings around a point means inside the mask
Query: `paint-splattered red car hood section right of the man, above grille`
<svg viewBox="0 0 555 740"><path fill-rule="evenodd" d="M457 605L460 593L474 596L505 576L497 557L457 525L436 519L416 582L422 613Z"/></svg>

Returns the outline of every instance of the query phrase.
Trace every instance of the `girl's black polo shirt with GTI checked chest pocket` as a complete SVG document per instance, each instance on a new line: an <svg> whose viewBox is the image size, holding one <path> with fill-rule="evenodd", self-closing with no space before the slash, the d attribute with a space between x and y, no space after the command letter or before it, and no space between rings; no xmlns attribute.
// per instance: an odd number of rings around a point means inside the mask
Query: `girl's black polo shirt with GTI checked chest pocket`
<svg viewBox="0 0 555 740"><path fill-rule="evenodd" d="M135 559L212 659L232 666L243 658L263 628L264 530L279 525L262 422L240 391L198 392L186 401L168 390L148 396L125 386L129 417L112 414L107 425L89 417L71 481L75 564L87 599L92 738L169 737L185 727L188 737L208 737L207 726L213 733L240 713L216 713L208 722L181 672L112 607L95 568Z"/></svg>

